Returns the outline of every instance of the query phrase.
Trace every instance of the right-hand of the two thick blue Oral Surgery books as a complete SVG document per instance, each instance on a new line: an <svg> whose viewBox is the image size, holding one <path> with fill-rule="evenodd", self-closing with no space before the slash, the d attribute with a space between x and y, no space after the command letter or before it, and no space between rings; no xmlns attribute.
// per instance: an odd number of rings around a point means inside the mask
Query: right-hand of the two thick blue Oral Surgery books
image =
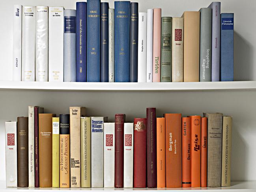
<svg viewBox="0 0 256 192"><path fill-rule="evenodd" d="M130 81L130 2L115 1L115 82Z"/></svg>

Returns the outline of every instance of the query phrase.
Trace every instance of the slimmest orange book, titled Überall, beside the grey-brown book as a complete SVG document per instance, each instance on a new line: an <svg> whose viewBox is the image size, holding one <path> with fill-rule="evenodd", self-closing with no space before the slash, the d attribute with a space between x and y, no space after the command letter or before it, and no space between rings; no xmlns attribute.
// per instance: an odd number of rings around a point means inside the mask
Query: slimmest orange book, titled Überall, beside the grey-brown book
<svg viewBox="0 0 256 192"><path fill-rule="evenodd" d="M207 117L201 122L201 187L207 187Z"/></svg>

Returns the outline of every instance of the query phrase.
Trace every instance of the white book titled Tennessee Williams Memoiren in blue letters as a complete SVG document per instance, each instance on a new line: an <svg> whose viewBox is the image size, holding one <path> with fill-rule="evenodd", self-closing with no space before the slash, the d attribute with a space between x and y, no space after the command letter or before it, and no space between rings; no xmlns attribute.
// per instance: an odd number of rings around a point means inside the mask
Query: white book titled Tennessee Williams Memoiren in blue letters
<svg viewBox="0 0 256 192"><path fill-rule="evenodd" d="M104 153L104 122L107 117L92 117L91 119L91 182L92 188L103 187L103 153Z"/></svg>

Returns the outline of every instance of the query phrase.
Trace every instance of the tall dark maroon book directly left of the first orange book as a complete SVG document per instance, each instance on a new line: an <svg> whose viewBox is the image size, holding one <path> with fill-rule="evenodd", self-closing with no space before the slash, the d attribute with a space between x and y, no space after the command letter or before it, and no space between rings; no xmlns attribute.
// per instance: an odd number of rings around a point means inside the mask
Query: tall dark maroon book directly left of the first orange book
<svg viewBox="0 0 256 192"><path fill-rule="evenodd" d="M155 108L147 108L147 181L148 188L157 187L157 117Z"/></svg>

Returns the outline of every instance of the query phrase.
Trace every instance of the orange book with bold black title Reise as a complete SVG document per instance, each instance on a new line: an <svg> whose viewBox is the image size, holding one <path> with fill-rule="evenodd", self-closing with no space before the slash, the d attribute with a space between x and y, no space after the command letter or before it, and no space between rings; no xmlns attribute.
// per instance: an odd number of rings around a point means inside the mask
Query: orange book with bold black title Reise
<svg viewBox="0 0 256 192"><path fill-rule="evenodd" d="M201 183L201 116L191 116L191 187Z"/></svg>

